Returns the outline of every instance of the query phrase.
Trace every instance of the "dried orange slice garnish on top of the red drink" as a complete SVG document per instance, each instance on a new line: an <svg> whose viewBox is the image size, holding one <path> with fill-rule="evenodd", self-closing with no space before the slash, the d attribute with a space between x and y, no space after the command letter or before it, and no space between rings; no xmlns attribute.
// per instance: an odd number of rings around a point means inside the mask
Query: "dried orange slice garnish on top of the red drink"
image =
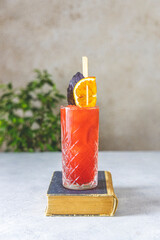
<svg viewBox="0 0 160 240"><path fill-rule="evenodd" d="M97 100L96 78L82 78L73 89L74 100L79 107L95 107Z"/></svg>

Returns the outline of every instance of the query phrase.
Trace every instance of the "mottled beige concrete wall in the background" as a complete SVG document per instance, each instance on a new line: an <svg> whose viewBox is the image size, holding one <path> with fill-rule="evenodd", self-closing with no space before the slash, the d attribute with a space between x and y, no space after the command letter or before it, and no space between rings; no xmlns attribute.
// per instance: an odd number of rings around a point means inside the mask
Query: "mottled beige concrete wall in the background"
<svg viewBox="0 0 160 240"><path fill-rule="evenodd" d="M47 69L66 94L89 57L100 149L160 150L159 0L0 0L0 82Z"/></svg>

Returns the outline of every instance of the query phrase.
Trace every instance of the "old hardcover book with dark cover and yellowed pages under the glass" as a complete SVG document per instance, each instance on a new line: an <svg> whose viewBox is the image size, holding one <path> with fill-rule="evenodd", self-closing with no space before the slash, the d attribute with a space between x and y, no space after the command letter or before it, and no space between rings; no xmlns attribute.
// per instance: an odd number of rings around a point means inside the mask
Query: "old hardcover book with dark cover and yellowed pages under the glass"
<svg viewBox="0 0 160 240"><path fill-rule="evenodd" d="M110 172L98 172L98 186L90 190L70 190L62 185L62 172L53 173L48 192L46 216L98 215L113 216L118 199Z"/></svg>

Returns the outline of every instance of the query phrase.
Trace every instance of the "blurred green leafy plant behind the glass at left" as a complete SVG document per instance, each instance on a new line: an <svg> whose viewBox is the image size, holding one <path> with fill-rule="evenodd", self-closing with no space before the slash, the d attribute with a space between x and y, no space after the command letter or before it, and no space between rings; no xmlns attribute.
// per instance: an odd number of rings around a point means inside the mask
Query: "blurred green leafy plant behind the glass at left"
<svg viewBox="0 0 160 240"><path fill-rule="evenodd" d="M11 83L0 86L0 147L6 151L60 150L57 107L65 96L47 71L35 72L35 80L22 89Z"/></svg>

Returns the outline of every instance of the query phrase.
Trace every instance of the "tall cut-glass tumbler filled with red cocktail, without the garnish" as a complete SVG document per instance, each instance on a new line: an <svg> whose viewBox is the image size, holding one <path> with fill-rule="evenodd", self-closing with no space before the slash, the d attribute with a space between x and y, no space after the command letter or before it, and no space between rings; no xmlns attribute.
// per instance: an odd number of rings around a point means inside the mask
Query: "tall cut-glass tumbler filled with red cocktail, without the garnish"
<svg viewBox="0 0 160 240"><path fill-rule="evenodd" d="M99 107L61 107L63 186L97 186Z"/></svg>

